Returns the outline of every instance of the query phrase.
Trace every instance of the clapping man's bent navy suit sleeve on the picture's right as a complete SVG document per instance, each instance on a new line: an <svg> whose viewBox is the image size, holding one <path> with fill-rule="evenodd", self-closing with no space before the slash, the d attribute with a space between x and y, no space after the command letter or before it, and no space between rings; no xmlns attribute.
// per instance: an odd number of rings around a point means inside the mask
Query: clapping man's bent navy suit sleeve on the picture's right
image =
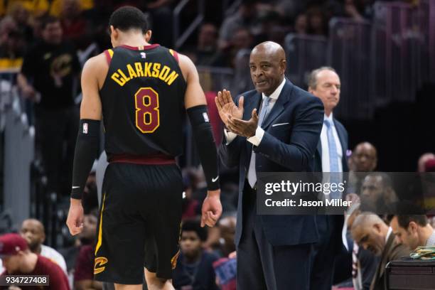
<svg viewBox="0 0 435 290"><path fill-rule="evenodd" d="M254 151L291 171L306 171L320 138L323 104L318 98L307 96L295 113L289 144L264 131L262 141Z"/></svg>

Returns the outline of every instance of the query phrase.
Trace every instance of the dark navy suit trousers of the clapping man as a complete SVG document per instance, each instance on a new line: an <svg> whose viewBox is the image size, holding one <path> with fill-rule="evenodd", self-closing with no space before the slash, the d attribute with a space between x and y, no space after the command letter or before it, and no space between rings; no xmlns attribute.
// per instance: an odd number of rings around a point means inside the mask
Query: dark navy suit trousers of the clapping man
<svg viewBox="0 0 435 290"><path fill-rule="evenodd" d="M257 193L247 181L237 245L237 290L308 290L312 244L273 246L257 215Z"/></svg>

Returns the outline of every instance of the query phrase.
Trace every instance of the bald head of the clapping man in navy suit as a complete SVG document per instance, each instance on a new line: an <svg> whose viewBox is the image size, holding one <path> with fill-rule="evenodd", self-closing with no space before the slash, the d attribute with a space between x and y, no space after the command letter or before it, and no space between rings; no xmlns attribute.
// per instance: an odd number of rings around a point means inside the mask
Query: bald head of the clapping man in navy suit
<svg viewBox="0 0 435 290"><path fill-rule="evenodd" d="M284 48L272 41L260 43L251 52L249 69L257 92L271 95L284 80L286 71Z"/></svg>

